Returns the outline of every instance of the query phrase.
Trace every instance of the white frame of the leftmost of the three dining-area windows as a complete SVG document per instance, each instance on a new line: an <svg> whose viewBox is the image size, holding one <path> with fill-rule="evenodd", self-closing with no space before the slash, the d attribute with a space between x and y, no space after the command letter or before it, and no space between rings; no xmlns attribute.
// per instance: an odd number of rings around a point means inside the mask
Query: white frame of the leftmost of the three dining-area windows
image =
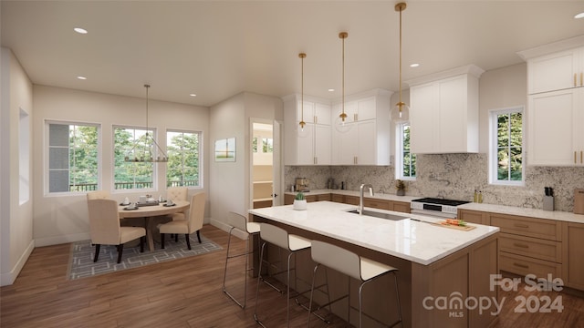
<svg viewBox="0 0 584 328"><path fill-rule="evenodd" d="M80 194L84 194L87 193L87 190L85 191L50 191L50 126L51 125L67 125L69 126L83 126L83 127L95 127L97 128L97 145L96 145L96 149L97 149L97 173L98 173L98 177L97 177L97 186L96 186L96 190L100 190L101 186L103 185L102 183L102 179L103 179L103 173L102 173L102 165L101 165L101 158L102 158L102 128L101 128L101 124L100 123L94 123L94 122L87 122L87 121L68 121L68 120L59 120L59 119L45 119L45 131L44 131L44 136L45 136L45 146L43 148L44 150L44 169L43 169L43 180L44 180L44 195L45 197L60 197L60 196L78 196ZM70 171L70 167L69 167L69 171Z"/></svg>

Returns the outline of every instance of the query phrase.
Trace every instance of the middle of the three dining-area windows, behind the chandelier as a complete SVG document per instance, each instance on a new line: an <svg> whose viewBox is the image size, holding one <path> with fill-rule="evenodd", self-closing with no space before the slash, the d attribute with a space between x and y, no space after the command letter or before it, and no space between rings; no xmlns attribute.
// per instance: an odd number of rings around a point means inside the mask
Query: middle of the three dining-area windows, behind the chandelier
<svg viewBox="0 0 584 328"><path fill-rule="evenodd" d="M154 136L153 130L149 129L148 133ZM114 127L113 134L114 189L154 188L154 163L125 160L126 157L156 156L156 154L150 154L150 149L152 146L156 149L156 145L152 145L151 139L146 138L146 129Z"/></svg>

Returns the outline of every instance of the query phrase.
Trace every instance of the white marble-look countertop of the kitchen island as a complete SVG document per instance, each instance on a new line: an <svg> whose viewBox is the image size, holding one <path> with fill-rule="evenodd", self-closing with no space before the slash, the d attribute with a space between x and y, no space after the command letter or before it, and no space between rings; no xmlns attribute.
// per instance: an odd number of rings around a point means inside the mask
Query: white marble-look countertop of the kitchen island
<svg viewBox="0 0 584 328"><path fill-rule="evenodd" d="M310 202L307 205L307 210L293 210L292 205L286 205L249 212L423 265L438 261L499 231L496 227L474 223L470 224L476 227L474 230L459 231L432 224L439 221L437 219L391 210L365 208L408 219L386 220L360 216L347 212L355 210L354 205L331 201Z"/></svg>

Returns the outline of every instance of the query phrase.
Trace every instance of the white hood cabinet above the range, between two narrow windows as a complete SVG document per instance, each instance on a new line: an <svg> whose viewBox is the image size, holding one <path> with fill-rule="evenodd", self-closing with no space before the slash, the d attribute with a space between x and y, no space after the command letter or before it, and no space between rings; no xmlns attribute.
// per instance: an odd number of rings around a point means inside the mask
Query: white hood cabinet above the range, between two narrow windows
<svg viewBox="0 0 584 328"><path fill-rule="evenodd" d="M478 152L478 78L483 72L471 65L407 82L412 153Z"/></svg>

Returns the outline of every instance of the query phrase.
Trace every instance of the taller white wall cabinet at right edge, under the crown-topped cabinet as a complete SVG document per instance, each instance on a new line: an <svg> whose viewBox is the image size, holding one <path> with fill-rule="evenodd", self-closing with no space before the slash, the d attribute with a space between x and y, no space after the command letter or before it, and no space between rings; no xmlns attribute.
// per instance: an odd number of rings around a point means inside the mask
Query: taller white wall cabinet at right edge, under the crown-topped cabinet
<svg viewBox="0 0 584 328"><path fill-rule="evenodd" d="M584 166L584 88L528 97L527 165Z"/></svg>

